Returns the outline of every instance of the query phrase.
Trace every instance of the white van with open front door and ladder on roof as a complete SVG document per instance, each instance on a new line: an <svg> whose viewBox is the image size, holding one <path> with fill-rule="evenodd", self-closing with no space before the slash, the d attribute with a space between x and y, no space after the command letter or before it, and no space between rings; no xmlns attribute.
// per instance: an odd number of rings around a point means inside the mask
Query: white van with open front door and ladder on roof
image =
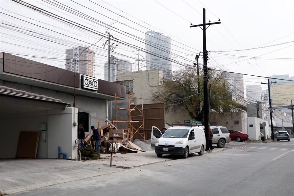
<svg viewBox="0 0 294 196"><path fill-rule="evenodd" d="M152 126L151 147L155 149L158 157L163 154L182 155L187 158L189 154L203 155L205 150L205 134L202 127L173 126L164 134Z"/></svg>

